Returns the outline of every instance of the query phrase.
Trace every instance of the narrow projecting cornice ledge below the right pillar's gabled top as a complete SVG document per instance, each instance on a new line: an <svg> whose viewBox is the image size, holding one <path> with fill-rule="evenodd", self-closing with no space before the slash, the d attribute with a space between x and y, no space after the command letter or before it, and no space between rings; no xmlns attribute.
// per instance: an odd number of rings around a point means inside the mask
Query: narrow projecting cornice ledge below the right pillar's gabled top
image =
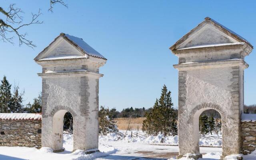
<svg viewBox="0 0 256 160"><path fill-rule="evenodd" d="M191 62L183 64L174 64L173 67L182 70L188 68L198 68L198 67L218 67L218 66L236 66L242 65L244 68L248 68L248 64L243 59L234 60L219 60L219 61L209 61L209 62Z"/></svg>

